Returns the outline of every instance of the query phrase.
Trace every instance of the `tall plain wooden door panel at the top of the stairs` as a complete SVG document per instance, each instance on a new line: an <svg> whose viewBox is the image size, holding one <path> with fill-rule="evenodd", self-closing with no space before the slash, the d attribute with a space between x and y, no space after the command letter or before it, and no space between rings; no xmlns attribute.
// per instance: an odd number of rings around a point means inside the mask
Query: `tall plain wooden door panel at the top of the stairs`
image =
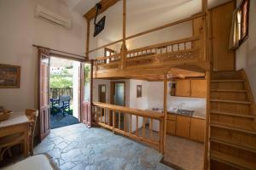
<svg viewBox="0 0 256 170"><path fill-rule="evenodd" d="M229 49L230 29L234 11L234 2L212 8L212 61L213 71L234 71L235 51Z"/></svg>

